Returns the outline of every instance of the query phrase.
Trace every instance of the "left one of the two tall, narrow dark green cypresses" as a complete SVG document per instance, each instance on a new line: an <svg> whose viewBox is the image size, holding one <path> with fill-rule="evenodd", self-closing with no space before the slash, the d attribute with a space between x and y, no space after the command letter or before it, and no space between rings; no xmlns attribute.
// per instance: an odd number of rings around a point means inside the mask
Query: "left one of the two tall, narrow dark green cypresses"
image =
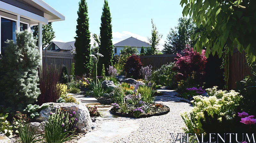
<svg viewBox="0 0 256 143"><path fill-rule="evenodd" d="M77 26L76 26L76 54L75 54L75 75L82 76L89 75L92 68L91 60L91 33L89 31L88 7L85 0L79 2L79 9L77 11Z"/></svg>

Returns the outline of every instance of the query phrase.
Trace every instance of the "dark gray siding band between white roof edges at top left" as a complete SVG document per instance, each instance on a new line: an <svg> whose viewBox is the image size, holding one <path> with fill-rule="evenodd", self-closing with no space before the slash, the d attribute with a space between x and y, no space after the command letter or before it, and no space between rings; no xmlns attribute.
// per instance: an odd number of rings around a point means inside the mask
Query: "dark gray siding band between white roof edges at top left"
<svg viewBox="0 0 256 143"><path fill-rule="evenodd" d="M7 4L11 4L11 5L21 8L23 10L26 10L26 11L29 11L29 12L32 12L34 14L44 17L43 11L36 9L35 7L33 7L32 5L28 4L27 2L25 2L23 0L0 0L0 1L7 3Z"/></svg>

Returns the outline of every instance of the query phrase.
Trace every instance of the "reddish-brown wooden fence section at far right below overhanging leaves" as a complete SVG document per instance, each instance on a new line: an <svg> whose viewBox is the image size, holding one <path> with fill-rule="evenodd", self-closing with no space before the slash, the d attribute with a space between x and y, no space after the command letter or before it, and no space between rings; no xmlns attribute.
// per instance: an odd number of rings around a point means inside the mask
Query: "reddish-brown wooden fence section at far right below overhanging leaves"
<svg viewBox="0 0 256 143"><path fill-rule="evenodd" d="M233 56L229 55L229 78L228 89L236 89L236 83L240 82L246 76L251 75L251 68L248 66L245 58L245 52L240 53L234 50Z"/></svg>

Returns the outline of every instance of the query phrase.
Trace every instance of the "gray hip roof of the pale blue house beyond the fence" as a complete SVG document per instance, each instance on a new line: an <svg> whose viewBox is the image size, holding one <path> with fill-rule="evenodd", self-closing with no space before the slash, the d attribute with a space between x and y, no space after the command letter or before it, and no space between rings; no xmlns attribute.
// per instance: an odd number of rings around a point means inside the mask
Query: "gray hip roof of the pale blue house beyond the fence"
<svg viewBox="0 0 256 143"><path fill-rule="evenodd" d="M127 38L121 42L114 44L114 46L131 46L131 47L151 47L148 43L140 41L134 37Z"/></svg>

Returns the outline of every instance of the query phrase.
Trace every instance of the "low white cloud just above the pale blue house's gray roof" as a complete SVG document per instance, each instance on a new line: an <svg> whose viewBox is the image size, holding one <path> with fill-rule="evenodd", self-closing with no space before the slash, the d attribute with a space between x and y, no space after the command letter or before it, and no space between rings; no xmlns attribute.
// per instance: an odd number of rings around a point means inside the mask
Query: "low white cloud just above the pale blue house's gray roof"
<svg viewBox="0 0 256 143"><path fill-rule="evenodd" d="M116 44L120 41L123 41L129 37L134 37L134 38L137 38L141 41L145 41L145 42L148 42L148 38L147 37L143 37L143 36L140 36L138 34L134 34L134 33L131 33L131 32L128 32L128 31L123 31L122 33L120 32L112 32L112 41L113 41L113 44ZM164 40L163 39L160 39L159 41L159 50L162 50L164 48Z"/></svg>

